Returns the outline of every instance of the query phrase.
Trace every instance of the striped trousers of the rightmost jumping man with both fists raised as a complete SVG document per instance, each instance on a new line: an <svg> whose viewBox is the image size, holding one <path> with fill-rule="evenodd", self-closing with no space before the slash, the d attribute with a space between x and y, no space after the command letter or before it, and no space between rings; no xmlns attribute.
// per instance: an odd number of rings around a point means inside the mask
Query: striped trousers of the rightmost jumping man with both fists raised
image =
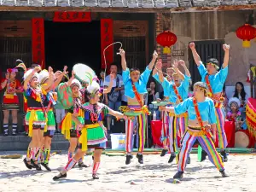
<svg viewBox="0 0 256 192"><path fill-rule="evenodd" d="M218 147L224 149L228 145L227 137L224 131L224 113L222 108L216 109L217 117L217 137L218 137Z"/></svg>

